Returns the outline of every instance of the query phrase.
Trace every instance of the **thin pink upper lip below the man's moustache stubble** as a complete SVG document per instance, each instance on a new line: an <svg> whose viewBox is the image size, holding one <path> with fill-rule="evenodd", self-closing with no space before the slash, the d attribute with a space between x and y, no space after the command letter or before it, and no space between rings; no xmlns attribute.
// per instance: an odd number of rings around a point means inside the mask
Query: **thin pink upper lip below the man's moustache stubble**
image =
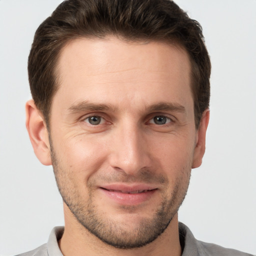
<svg viewBox="0 0 256 256"><path fill-rule="evenodd" d="M105 184L99 186L100 188L104 188L107 190L120 191L123 193L129 193L134 191L143 191L143 190L153 190L157 187L151 184Z"/></svg>

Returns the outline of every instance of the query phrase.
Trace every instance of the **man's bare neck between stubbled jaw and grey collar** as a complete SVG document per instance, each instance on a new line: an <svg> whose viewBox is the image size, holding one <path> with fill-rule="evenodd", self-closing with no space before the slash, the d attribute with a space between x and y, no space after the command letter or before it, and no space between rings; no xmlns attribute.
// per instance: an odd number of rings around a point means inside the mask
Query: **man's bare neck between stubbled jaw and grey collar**
<svg viewBox="0 0 256 256"><path fill-rule="evenodd" d="M102 242L76 221L71 212L64 206L65 229L58 241L59 248L65 256L180 256L181 247L178 234L177 214L174 215L168 227L151 243L139 248L120 249Z"/></svg>

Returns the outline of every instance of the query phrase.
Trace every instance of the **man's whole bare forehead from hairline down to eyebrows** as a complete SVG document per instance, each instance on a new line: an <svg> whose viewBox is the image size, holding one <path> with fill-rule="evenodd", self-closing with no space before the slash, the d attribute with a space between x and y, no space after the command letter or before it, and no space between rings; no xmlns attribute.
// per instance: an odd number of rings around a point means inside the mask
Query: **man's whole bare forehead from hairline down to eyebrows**
<svg viewBox="0 0 256 256"><path fill-rule="evenodd" d="M126 42L79 38L61 50L57 64L59 89L53 97L67 104L98 100L124 106L138 101L191 101L190 61L181 47L165 42ZM167 96L168 95L168 96Z"/></svg>

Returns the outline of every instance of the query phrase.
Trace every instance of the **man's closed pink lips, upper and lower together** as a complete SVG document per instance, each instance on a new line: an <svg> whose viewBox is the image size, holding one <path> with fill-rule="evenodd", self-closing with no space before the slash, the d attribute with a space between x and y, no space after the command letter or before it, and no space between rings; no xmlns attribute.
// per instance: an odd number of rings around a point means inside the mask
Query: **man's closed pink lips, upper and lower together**
<svg viewBox="0 0 256 256"><path fill-rule="evenodd" d="M148 184L107 184L99 187L100 191L110 200L122 205L136 205L149 200L156 186Z"/></svg>

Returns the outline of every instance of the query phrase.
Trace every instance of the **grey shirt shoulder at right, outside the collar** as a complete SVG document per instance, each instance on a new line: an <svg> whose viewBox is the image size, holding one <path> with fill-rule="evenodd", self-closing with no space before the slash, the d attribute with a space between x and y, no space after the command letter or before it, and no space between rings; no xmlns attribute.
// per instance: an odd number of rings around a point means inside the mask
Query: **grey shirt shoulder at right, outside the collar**
<svg viewBox="0 0 256 256"><path fill-rule="evenodd" d="M224 248L214 243L207 243L196 240L199 255L221 255L221 256L253 256L235 249Z"/></svg>

